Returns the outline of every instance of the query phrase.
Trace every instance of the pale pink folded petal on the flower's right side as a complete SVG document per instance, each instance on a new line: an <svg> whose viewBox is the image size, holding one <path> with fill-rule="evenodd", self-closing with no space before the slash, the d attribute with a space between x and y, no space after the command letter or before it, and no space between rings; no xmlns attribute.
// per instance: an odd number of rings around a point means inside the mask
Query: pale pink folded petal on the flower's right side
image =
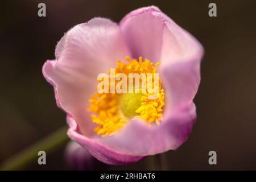
<svg viewBox="0 0 256 182"><path fill-rule="evenodd" d="M174 22L167 19L164 24L160 76L168 100L166 107L174 110L193 102L200 84L204 49Z"/></svg>

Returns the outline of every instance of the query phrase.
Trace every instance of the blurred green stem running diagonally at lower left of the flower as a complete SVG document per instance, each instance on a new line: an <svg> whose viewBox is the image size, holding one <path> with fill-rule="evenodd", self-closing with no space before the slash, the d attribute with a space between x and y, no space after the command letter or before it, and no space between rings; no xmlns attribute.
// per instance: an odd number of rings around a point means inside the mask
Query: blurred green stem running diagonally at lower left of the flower
<svg viewBox="0 0 256 182"><path fill-rule="evenodd" d="M32 144L32 146L25 148L3 162L0 165L0 170L20 170L26 168L32 162L37 162L39 151L45 151L46 154L49 154L49 152L68 142L67 130L67 126L61 127L59 130Z"/></svg>

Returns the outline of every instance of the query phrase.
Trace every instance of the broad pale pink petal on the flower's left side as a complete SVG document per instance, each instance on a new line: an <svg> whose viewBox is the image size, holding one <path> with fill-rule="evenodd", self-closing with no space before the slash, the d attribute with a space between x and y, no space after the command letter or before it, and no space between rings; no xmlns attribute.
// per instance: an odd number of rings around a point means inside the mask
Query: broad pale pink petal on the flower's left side
<svg viewBox="0 0 256 182"><path fill-rule="evenodd" d="M57 44L56 61L46 61L43 75L54 86L57 105L79 123L86 136L94 135L89 98L97 76L130 56L121 30L108 19L94 18L67 32Z"/></svg>

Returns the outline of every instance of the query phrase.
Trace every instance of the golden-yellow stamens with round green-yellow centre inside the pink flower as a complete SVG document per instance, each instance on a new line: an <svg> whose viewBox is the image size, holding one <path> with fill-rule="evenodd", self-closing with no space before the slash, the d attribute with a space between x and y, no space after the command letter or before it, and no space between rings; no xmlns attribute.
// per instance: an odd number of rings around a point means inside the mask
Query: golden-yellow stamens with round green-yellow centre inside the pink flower
<svg viewBox="0 0 256 182"><path fill-rule="evenodd" d="M123 63L118 60L115 68L115 76L118 73L157 73L156 67L160 63L152 63L148 59L130 59L126 57L128 63ZM152 85L154 85L154 79ZM151 87L152 88L152 87ZM164 89L161 86L159 78L158 97L150 100L147 93L96 93L89 102L89 111L94 114L91 116L92 121L97 123L94 129L98 135L108 136L115 134L121 129L129 119L140 118L147 123L156 122L159 125L162 119L164 106Z"/></svg>

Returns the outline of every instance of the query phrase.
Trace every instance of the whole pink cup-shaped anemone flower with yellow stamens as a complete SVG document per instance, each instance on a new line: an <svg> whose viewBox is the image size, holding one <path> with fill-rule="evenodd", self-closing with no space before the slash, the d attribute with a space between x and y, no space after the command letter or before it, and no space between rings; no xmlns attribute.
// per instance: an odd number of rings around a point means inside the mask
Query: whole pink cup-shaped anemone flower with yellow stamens
<svg viewBox="0 0 256 182"><path fill-rule="evenodd" d="M188 138L203 53L191 34L150 6L131 11L119 25L93 18L71 28L43 75L67 113L69 137L101 162L130 164L175 150ZM159 73L159 97L97 93L98 74L110 68Z"/></svg>

